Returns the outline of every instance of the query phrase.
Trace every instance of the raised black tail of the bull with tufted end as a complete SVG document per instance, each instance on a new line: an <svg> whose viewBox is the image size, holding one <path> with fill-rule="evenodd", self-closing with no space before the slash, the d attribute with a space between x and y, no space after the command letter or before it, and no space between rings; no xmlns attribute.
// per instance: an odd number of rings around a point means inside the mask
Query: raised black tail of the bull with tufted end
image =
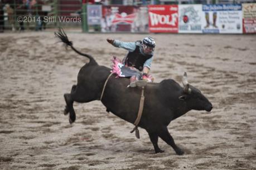
<svg viewBox="0 0 256 170"><path fill-rule="evenodd" d="M89 58L90 64L97 64L97 62L95 61L95 59L92 56L90 56L89 54L81 53L73 47L73 43L71 41L69 41L69 38L67 38L67 35L62 28L59 28L59 31L55 32L54 34L56 37L60 38L60 40L66 44L66 47L70 46L76 53L80 54L81 56Z"/></svg>

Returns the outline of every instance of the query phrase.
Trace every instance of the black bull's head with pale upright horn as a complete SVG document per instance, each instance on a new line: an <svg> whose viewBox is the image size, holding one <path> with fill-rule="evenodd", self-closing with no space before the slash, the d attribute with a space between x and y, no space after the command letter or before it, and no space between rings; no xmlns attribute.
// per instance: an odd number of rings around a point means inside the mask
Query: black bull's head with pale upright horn
<svg viewBox="0 0 256 170"><path fill-rule="evenodd" d="M204 96L204 94L199 91L199 89L191 86L187 82L187 73L185 72L182 78L183 84L183 93L178 99L187 103L187 106L190 109L195 110L205 110L210 112L212 109L212 104L208 101L208 99Z"/></svg>

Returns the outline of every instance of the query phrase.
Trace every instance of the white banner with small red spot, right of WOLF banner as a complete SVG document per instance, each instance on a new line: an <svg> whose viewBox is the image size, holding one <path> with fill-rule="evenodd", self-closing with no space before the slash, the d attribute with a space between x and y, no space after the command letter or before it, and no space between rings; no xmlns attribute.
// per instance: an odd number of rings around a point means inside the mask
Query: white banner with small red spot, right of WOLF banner
<svg viewBox="0 0 256 170"><path fill-rule="evenodd" d="M178 5L178 33L202 33L203 19L201 4Z"/></svg>

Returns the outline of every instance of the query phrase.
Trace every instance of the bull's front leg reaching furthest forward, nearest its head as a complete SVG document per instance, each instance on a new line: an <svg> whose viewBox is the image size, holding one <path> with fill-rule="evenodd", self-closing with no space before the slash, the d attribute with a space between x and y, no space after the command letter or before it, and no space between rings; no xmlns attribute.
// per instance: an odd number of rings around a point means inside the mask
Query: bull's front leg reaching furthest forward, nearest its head
<svg viewBox="0 0 256 170"><path fill-rule="evenodd" d="M158 135L161 139L163 139L163 141L169 144L178 155L184 154L182 149L176 146L171 134L168 132L167 127L163 127Z"/></svg>

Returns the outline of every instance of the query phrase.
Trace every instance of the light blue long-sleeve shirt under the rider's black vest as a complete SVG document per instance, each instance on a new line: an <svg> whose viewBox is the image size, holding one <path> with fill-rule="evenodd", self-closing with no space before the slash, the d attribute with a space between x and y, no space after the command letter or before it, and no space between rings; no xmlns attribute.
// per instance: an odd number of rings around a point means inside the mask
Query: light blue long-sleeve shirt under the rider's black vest
<svg viewBox="0 0 256 170"><path fill-rule="evenodd" d="M133 52L136 49L136 43L139 44L139 42L122 42L119 40L114 40L113 46L119 47L119 48L124 48L124 49L127 49L129 52ZM140 46L139 51L142 54L144 54L142 46ZM151 54L153 56L153 52ZM125 61L126 57L124 57L123 62ZM147 59L146 62L144 62L143 67L148 67L150 69L152 61L153 61L153 57Z"/></svg>

